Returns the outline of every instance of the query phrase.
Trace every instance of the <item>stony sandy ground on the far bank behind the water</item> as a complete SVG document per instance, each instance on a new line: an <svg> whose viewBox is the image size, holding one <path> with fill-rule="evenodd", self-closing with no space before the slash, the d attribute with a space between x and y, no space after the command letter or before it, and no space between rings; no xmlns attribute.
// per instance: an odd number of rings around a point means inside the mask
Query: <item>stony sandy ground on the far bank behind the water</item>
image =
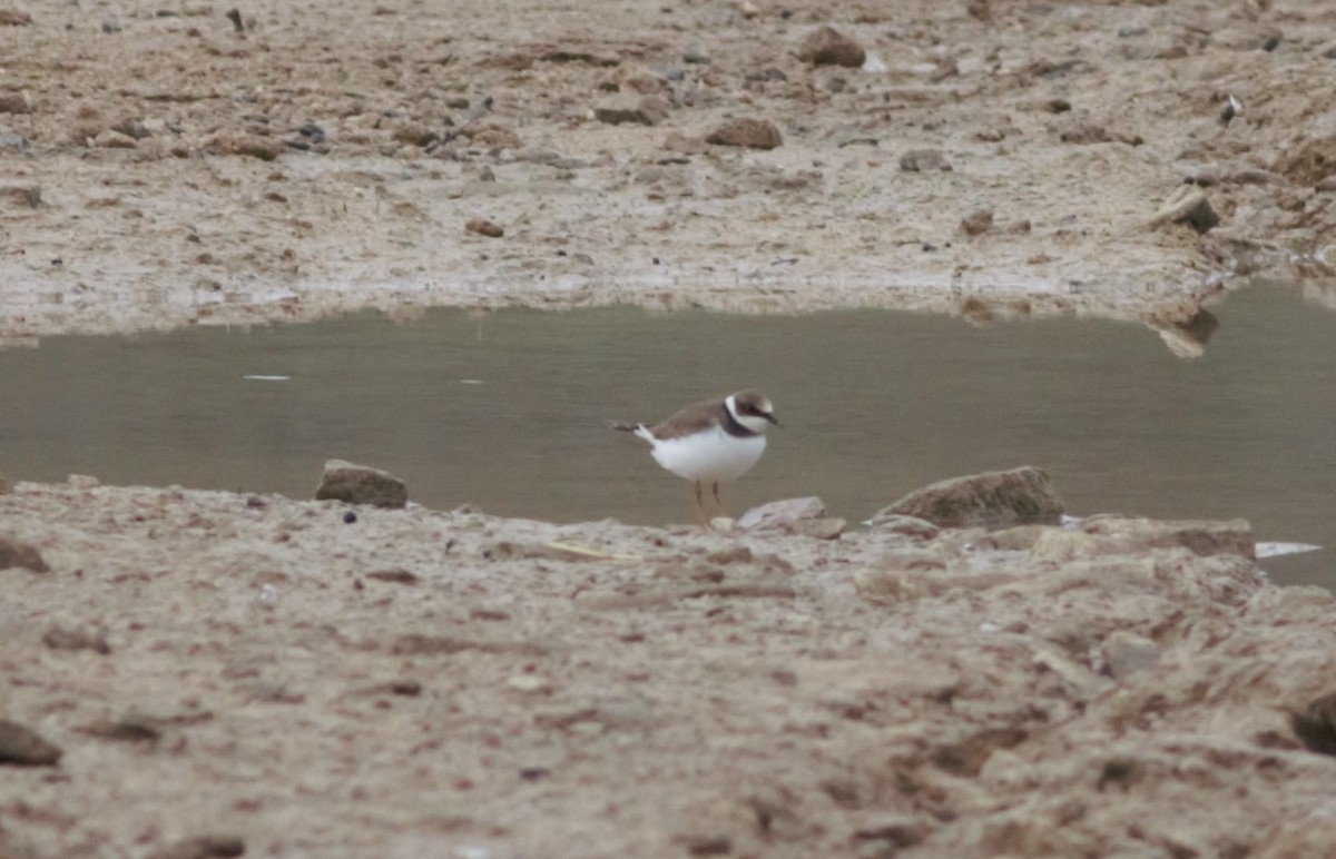
<svg viewBox="0 0 1336 859"><path fill-rule="evenodd" d="M1331 274L1329 4L970 8L35 7L0 29L0 335L441 303L1172 322L1240 271ZM800 60L823 24L883 71ZM743 118L782 146L704 142ZM1189 179L1220 226L1149 226Z"/></svg>

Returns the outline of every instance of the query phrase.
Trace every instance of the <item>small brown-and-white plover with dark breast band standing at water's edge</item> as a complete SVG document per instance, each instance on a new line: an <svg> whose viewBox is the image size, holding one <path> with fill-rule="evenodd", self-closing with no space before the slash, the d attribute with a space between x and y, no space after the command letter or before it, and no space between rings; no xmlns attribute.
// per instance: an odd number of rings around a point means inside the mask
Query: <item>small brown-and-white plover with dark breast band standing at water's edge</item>
<svg viewBox="0 0 1336 859"><path fill-rule="evenodd" d="M644 438L659 465L692 482L696 514L708 528L701 497L705 484L720 514L727 516L719 484L737 480L756 465L771 425L779 426L775 407L766 395L747 389L692 403L659 423L613 423L612 429Z"/></svg>

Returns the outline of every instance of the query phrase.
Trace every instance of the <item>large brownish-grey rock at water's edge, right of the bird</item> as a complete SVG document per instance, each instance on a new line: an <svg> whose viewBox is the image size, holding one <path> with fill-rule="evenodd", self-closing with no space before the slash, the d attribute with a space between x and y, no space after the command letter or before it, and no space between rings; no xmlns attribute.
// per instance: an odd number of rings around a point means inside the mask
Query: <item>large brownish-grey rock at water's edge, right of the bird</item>
<svg viewBox="0 0 1336 859"><path fill-rule="evenodd" d="M1057 524L1062 500L1033 466L955 477L904 496L878 516L899 513L942 528Z"/></svg>

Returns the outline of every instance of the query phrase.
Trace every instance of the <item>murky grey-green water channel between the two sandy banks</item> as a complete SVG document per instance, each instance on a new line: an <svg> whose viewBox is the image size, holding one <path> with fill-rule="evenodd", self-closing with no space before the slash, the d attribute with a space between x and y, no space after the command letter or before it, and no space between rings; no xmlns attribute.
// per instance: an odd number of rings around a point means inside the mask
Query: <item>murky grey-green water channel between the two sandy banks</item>
<svg viewBox="0 0 1336 859"><path fill-rule="evenodd" d="M886 311L433 311L49 338L0 351L0 474L309 497L341 457L428 506L684 522L687 484L607 423L754 385L783 426L725 494L733 512L816 494L859 520L943 477L1033 464L1077 514L1241 516L1261 540L1336 546L1336 313L1279 287L1212 313L1196 359L1130 323ZM1332 557L1267 566L1333 585Z"/></svg>

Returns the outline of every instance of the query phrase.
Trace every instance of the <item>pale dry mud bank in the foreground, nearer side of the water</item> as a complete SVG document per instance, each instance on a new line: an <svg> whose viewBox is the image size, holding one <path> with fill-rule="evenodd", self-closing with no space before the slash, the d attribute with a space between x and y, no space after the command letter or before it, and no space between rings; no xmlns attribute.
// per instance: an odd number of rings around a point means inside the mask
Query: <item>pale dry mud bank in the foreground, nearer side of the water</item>
<svg viewBox="0 0 1336 859"><path fill-rule="evenodd" d="M0 496L49 568L0 570L0 712L64 749L3 769L0 852L1336 843L1333 598L1268 584L1245 522L820 540L349 512Z"/></svg>

